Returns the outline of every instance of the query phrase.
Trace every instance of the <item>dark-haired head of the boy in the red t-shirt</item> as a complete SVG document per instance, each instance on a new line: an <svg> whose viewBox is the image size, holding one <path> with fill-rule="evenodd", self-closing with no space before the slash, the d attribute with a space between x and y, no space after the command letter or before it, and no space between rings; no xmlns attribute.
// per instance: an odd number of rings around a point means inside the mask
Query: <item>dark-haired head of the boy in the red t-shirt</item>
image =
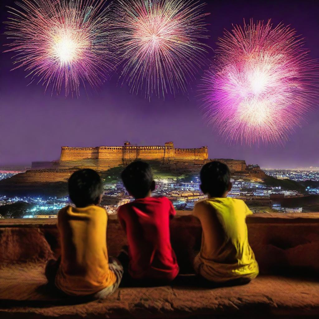
<svg viewBox="0 0 319 319"><path fill-rule="evenodd" d="M122 172L122 181L126 190L135 198L150 196L155 189L152 168L142 161L134 161Z"/></svg>

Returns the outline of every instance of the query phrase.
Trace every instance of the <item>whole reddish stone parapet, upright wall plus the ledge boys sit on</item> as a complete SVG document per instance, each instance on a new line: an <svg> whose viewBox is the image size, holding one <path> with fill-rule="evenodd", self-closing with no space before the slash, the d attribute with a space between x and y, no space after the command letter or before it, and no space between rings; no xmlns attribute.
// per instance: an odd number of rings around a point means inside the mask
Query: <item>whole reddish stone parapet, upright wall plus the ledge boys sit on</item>
<svg viewBox="0 0 319 319"><path fill-rule="evenodd" d="M248 285L230 287L201 283L191 274L201 227L189 212L177 214L171 241L181 273L174 282L121 287L99 301L67 297L46 284L45 262L60 254L56 219L0 220L0 317L317 318L318 213L249 216L249 242L261 274ZM109 254L115 256L126 243L116 216L110 216L107 234Z"/></svg>

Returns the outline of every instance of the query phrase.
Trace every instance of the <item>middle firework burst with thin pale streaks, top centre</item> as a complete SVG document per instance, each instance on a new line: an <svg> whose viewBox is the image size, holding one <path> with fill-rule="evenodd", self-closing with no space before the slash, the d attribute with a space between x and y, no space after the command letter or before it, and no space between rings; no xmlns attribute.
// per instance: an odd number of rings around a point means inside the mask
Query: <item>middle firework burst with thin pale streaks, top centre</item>
<svg viewBox="0 0 319 319"><path fill-rule="evenodd" d="M117 35L122 81L131 93L186 93L187 82L204 64L204 4L193 0L118 0Z"/></svg>

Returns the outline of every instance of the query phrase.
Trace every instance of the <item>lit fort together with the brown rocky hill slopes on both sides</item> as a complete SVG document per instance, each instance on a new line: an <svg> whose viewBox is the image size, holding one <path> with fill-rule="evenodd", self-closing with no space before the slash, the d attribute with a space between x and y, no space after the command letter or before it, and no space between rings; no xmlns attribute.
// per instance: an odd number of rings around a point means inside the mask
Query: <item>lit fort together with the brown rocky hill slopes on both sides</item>
<svg viewBox="0 0 319 319"><path fill-rule="evenodd" d="M228 165L234 178L263 179L265 173L258 165L246 165L238 159L208 159L208 148L175 148L173 142L164 146L137 146L124 142L123 146L68 147L62 146L59 161L33 162L31 170L0 181L3 193L49 193L54 187L61 194L70 175L78 168L93 168L106 172L141 159L153 161L158 171L198 174L202 165L218 160ZM157 162L157 163L156 163ZM47 186L45 186L47 185ZM64 185L64 186L63 186ZM64 193L63 193L64 194Z"/></svg>

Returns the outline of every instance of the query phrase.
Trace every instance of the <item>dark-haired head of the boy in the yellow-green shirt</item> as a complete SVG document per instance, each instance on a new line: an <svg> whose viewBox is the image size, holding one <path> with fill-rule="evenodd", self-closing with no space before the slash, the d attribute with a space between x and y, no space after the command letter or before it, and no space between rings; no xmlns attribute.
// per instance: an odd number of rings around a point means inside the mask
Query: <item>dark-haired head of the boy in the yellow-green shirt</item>
<svg viewBox="0 0 319 319"><path fill-rule="evenodd" d="M201 188L212 197L221 197L230 183L230 171L226 164L213 161L205 164L200 171Z"/></svg>

